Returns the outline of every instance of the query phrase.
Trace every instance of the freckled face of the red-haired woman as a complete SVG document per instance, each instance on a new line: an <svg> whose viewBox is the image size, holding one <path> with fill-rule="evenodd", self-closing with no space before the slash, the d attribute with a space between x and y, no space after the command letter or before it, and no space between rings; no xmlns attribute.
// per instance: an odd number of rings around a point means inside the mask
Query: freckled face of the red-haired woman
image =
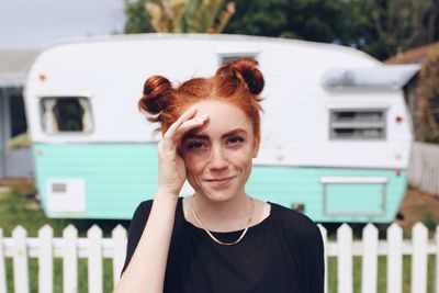
<svg viewBox="0 0 439 293"><path fill-rule="evenodd" d="M207 122L184 135L180 151L189 183L196 194L226 201L245 194L252 158L258 155L254 129L246 114L223 101L194 104Z"/></svg>

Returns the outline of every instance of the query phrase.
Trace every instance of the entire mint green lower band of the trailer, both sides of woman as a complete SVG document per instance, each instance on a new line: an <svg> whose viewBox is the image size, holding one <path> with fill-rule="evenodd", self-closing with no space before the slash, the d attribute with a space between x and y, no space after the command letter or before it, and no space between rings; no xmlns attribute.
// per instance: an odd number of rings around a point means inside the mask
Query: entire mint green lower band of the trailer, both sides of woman
<svg viewBox="0 0 439 293"><path fill-rule="evenodd" d="M156 192L156 144L35 144L34 154L38 192L50 217L131 218L138 203ZM380 184L327 184L326 210L342 213L325 213L323 177L385 177L384 202ZM85 212L48 211L47 181L54 178L85 180ZM248 194L264 201L288 207L303 204L304 213L316 222L352 223L391 222L405 190L404 171L396 176L394 170L274 166L255 166L246 188ZM384 214L376 215L382 206Z"/></svg>

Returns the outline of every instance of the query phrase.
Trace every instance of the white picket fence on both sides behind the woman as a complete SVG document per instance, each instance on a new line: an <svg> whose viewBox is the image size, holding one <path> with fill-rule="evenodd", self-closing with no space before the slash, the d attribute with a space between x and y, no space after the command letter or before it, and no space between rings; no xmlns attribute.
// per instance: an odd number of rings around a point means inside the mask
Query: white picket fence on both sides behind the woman
<svg viewBox="0 0 439 293"><path fill-rule="evenodd" d="M362 257L361 292L378 292L378 256L387 258L386 292L403 292L403 256L412 256L412 293L427 292L427 257L435 255L435 292L439 293L439 226L434 239L428 238L427 228L417 223L413 227L413 238L403 239L403 229L392 224L386 240L379 239L379 230L368 224L362 232L362 240L353 240L352 229L341 225L337 240L327 240L326 229L319 225L325 244L325 258L337 258L337 292L353 292L352 258ZM7 293L5 258L12 258L13 284L15 293L30 292L29 258L38 259L38 292L54 292L54 258L63 259L63 292L78 292L78 259L88 259L89 292L103 292L103 258L113 260L113 284L119 280L125 259L126 230L117 226L111 238L103 238L98 226L91 227L87 237L79 238L74 226L68 226L63 238L54 238L50 226L44 226L38 237L26 237L26 230L18 226L12 237L3 238L0 229L0 293ZM327 261L326 261L327 267ZM327 268L325 270L327 272ZM327 273L325 277L327 289Z"/></svg>

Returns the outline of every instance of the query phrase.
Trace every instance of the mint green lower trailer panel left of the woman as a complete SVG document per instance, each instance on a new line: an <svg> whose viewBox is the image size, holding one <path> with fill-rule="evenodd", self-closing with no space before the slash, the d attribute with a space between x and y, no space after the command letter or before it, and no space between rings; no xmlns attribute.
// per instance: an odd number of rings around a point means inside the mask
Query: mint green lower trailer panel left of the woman
<svg viewBox="0 0 439 293"><path fill-rule="evenodd" d="M156 144L34 145L43 207L50 217L131 218L157 188ZM87 212L49 213L49 179L85 179Z"/></svg>

